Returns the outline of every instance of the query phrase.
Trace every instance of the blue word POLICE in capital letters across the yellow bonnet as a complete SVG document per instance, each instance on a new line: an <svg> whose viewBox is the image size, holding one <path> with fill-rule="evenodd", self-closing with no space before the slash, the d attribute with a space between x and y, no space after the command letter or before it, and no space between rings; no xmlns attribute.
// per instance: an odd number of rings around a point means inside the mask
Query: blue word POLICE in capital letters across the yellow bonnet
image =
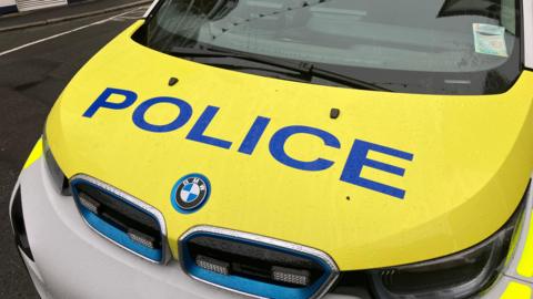
<svg viewBox="0 0 533 299"><path fill-rule="evenodd" d="M115 101L109 101L111 96L113 96ZM123 101L117 102L117 97L123 97ZM97 97L97 100L94 100L94 102L89 106L89 109L83 113L82 116L92 118L100 109L124 110L133 105L137 99L138 95L133 91L108 87L102 92L102 94ZM152 106L160 103L173 104L180 109L180 113L172 122L168 124L149 123L145 120L145 113ZM224 150L230 150L232 145L231 141L222 140L214 136L208 136L205 134L205 131L208 130L219 111L220 107L211 105L207 106L202 114L198 117L195 123L192 125L191 130L187 135L187 140L217 146ZM192 112L192 106L181 99L171 96L159 96L145 100L144 102L139 104L139 106L133 111L132 121L133 124L141 130L153 133L168 133L184 126L190 121ZM254 122L248 130L247 134L244 135L244 138L242 140L238 152L245 155L252 155L262 136L264 135L264 132L270 124L270 121L271 118L269 117L257 116ZM308 135L311 138L318 137L323 142L324 146L338 150L341 148L341 142L333 134L326 131L305 125L290 125L278 130L270 138L269 150L275 161L288 167L306 172L325 171L334 165L334 161L326 159L324 157L316 157L314 161L301 161L296 157L290 156L285 152L285 144L289 142L289 138L291 136L294 136L296 134ZM363 167L371 167L398 176L404 176L405 174L404 168L369 158L368 155L370 152L379 152L410 162L414 158L414 155L408 152L374 144L371 142L355 140L344 164L340 181L365 189L385 194L394 198L405 198L406 192L404 189L390 186L381 182L371 181L361 176Z"/></svg>

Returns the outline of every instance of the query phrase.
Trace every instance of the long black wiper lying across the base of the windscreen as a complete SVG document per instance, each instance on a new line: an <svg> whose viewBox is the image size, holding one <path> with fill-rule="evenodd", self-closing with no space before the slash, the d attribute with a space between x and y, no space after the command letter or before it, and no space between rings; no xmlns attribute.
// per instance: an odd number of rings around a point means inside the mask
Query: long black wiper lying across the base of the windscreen
<svg viewBox="0 0 533 299"><path fill-rule="evenodd" d="M358 87L370 91L388 91L385 87L379 86L378 84L366 82L360 79L340 74L330 70L321 69L309 62L291 62L284 59L273 59L260 54L253 54L241 51L228 51L214 48L187 48L187 47L174 47L172 51L167 52L171 55L177 56L189 56L189 58L234 58L242 59L248 61L253 61L257 63L268 64L278 66L281 69L290 70L293 72L300 73L306 81L311 81L312 78L320 78L331 82L340 83L350 87Z"/></svg>

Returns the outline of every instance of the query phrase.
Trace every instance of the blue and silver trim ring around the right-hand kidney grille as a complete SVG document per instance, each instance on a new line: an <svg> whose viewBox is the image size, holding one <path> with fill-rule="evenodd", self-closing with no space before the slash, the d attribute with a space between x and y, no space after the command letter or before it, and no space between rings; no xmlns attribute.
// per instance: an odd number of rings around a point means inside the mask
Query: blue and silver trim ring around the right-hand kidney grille
<svg viewBox="0 0 533 299"><path fill-rule="evenodd" d="M264 281L258 281L258 280L253 280L253 279L249 279L240 276L231 276L231 275L225 276L225 275L217 274L217 272L209 271L198 267L195 265L195 261L189 254L188 243L197 237L214 237L219 239L225 239L225 240L237 241L237 243L247 244L247 245L253 245L261 248L293 255L295 257L310 259L319 264L322 267L324 272L319 279L314 281L313 285L305 288L278 286L278 285L272 285ZM202 230L193 231L191 234L185 234L184 237L180 239L179 249L180 249L181 266L184 269L184 271L189 274L191 277L218 287L222 287L224 289L229 289L232 291L247 293L247 295L251 295L260 298L279 298L279 299L315 298L322 295L322 292L324 291L324 288L326 290L330 287L328 285L331 285L331 282L333 282L338 276L336 266L333 265L334 268L332 268L331 264L329 265L322 258L319 258L314 255L306 254L299 250L293 250L290 248L284 248L276 245L265 244L263 241L258 241L254 239L241 238L241 237L230 236L225 234L217 234L217 233L202 231Z"/></svg>

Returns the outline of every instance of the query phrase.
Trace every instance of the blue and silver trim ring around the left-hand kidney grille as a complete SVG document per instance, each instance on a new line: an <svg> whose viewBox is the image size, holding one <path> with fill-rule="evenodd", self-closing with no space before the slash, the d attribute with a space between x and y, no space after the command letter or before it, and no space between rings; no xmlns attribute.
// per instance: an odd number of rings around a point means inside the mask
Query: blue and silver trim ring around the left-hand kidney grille
<svg viewBox="0 0 533 299"><path fill-rule="evenodd" d="M87 184L90 185L94 188L98 188L100 192L108 194L109 196L112 196L117 200L120 200L123 204L127 204L137 210L148 215L149 217L152 217L158 224L159 224L159 229L161 230L161 224L159 218L155 215L152 215L148 213L147 210L133 205L132 203L125 200L118 194L111 193L108 189L102 188L101 186L93 184L89 181L82 179L82 178L74 178L71 181L71 186L72 186L72 195L74 197L76 205L78 206L78 209L80 210L81 216L86 220L86 223L94 229L97 233L99 233L101 236L104 238L115 243L120 247L140 256L143 257L150 261L153 262L163 262L164 261L164 254L163 254L163 248L164 245L162 245L162 249L153 249L147 246L143 246L139 243L133 241L127 233L122 231L121 229L117 228L112 224L107 223L102 218L100 218L97 214L92 213L91 210L87 209L80 204L79 199L79 192L77 186L80 184ZM164 240L164 235L161 235L161 240Z"/></svg>

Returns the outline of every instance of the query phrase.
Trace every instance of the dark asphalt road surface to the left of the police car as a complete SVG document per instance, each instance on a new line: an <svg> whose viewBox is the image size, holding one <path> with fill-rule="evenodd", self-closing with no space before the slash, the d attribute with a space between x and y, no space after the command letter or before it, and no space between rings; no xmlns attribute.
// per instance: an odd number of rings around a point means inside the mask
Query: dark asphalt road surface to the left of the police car
<svg viewBox="0 0 533 299"><path fill-rule="evenodd" d="M129 9L66 23L0 33L0 298L2 299L39 298L16 251L8 206L18 174L42 133L48 112L76 72L107 42L131 24L134 19L140 18L145 8ZM128 13L114 17L124 12ZM101 20L107 21L94 23ZM88 24L91 25L70 32ZM63 32L69 33L43 40ZM28 45L39 40L43 41ZM21 45L28 47L17 49Z"/></svg>

